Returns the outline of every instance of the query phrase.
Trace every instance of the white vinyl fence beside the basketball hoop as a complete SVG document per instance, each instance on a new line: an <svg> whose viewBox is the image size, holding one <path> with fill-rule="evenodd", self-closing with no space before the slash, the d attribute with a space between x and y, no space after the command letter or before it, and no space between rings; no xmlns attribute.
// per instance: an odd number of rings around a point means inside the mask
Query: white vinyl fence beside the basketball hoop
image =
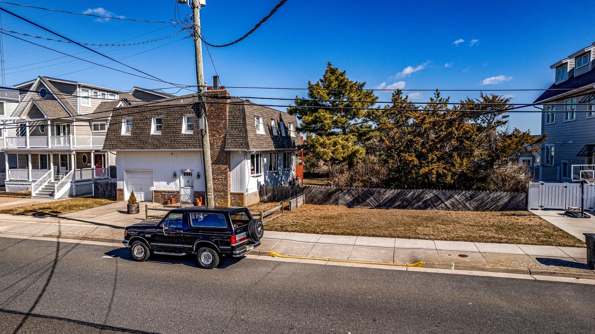
<svg viewBox="0 0 595 334"><path fill-rule="evenodd" d="M585 210L595 207L595 186L584 185ZM580 183L529 182L527 209L566 209L581 206Z"/></svg>

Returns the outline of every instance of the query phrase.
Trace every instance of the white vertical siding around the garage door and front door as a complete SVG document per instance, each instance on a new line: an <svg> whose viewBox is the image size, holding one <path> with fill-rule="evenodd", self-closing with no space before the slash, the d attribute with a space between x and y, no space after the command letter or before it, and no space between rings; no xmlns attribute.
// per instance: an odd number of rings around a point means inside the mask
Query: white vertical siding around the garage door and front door
<svg viewBox="0 0 595 334"><path fill-rule="evenodd" d="M124 188L124 171L154 171L154 187L156 190L180 190L180 171L190 169L194 177L201 173L200 179L194 181L194 191L205 191L204 172L202 167L202 153L198 151L147 151L123 152L118 151L118 188ZM173 174L176 172L176 178Z"/></svg>

